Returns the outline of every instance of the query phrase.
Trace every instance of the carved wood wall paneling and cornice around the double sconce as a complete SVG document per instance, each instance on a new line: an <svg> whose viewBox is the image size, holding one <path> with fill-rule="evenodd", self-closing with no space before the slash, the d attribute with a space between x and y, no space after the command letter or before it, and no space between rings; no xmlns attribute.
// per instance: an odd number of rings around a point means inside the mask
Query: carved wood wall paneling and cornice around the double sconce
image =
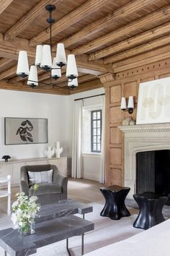
<svg viewBox="0 0 170 256"><path fill-rule="evenodd" d="M106 93L106 183L124 184L124 141L118 126L127 116L136 119L138 106L138 86L140 82L170 77L170 59L136 67L112 76L100 77ZM120 110L122 97L133 95L135 109L133 114Z"/></svg>

